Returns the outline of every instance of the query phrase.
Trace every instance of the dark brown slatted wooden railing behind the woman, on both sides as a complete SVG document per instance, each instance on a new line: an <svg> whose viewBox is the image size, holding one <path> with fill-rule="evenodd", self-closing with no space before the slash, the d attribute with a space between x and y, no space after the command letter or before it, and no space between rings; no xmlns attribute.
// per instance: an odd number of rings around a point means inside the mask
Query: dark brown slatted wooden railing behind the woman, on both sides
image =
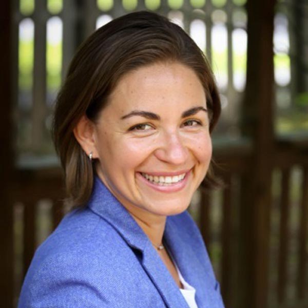
<svg viewBox="0 0 308 308"><path fill-rule="evenodd" d="M277 142L273 186L271 227L268 232L269 269L268 307L300 308L308 305L308 146L294 142ZM215 146L216 173L224 184L216 191L199 191L190 212L201 233L221 282L226 308L237 307L241 207L241 177L249 172L252 146L249 142ZM293 168L301 175L296 196L292 192ZM59 223L63 207L63 179L59 167L19 170L14 191L14 268L15 301L22 279L36 246ZM298 195L299 194L299 195ZM254 198L254 196L251 196ZM294 201L297 198L298 201ZM295 210L295 204L297 207ZM296 217L295 222L292 221ZM277 231L278 230L278 231ZM253 232L253 230L252 230ZM296 242L297 249L291 246ZM247 247L249 249L249 247ZM292 258L292 262L290 262ZM257 261L258 262L258 261ZM259 260L262 262L262 260ZM290 267L291 264L291 267ZM290 273L292 272L292 273ZM290 275L292 276L290 278ZM254 277L251 277L253 280ZM247 281L249 283L249 281ZM260 307L261 308L261 307ZM263 308L263 307L262 307Z"/></svg>

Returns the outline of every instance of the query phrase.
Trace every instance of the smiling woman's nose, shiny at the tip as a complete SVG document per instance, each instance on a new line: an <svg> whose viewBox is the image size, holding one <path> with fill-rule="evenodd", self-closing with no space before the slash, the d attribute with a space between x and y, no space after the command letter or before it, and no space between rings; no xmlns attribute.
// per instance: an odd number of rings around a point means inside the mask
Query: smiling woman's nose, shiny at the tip
<svg viewBox="0 0 308 308"><path fill-rule="evenodd" d="M183 137L177 131L165 132L160 147L155 151L156 157L169 164L182 165L188 157L188 149Z"/></svg>

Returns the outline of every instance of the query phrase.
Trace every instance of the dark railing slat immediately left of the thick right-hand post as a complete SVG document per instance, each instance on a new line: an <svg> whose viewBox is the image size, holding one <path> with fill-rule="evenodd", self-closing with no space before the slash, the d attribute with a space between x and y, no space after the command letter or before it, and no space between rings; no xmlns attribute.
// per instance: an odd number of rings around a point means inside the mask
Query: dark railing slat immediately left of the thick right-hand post
<svg viewBox="0 0 308 308"><path fill-rule="evenodd" d="M232 272L232 191L231 177L226 176L224 179L226 187L223 191L222 204L222 262L221 262L221 293L225 306L231 307L232 294L231 291L231 272Z"/></svg>

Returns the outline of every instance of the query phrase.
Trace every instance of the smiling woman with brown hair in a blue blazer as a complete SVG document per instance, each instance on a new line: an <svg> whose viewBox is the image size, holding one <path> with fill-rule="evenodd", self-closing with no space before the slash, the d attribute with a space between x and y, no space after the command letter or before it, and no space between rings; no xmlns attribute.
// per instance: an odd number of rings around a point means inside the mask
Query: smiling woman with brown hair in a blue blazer
<svg viewBox="0 0 308 308"><path fill-rule="evenodd" d="M165 17L131 13L94 32L54 114L75 209L37 249L19 307L222 308L186 211L219 113L202 52Z"/></svg>

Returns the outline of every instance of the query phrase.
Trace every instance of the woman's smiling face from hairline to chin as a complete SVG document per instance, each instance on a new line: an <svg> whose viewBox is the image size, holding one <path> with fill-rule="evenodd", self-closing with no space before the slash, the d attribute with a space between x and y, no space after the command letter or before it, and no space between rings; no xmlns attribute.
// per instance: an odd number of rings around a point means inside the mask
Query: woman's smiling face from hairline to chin
<svg viewBox="0 0 308 308"><path fill-rule="evenodd" d="M204 89L179 63L122 77L94 125L97 174L133 215L184 211L211 158Z"/></svg>

